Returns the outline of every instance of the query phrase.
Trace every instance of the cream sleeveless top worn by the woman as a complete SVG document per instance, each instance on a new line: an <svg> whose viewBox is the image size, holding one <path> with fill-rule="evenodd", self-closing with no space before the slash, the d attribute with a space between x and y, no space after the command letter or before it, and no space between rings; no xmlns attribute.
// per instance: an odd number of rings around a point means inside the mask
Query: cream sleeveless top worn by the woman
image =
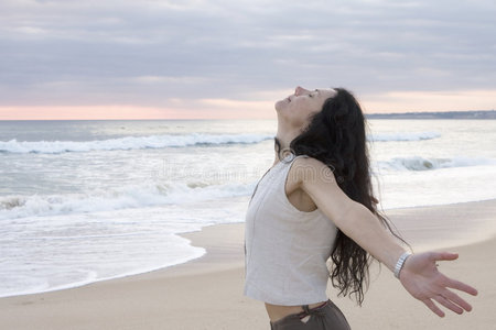
<svg viewBox="0 0 496 330"><path fill-rule="evenodd" d="M246 215L245 295L273 305L327 300L337 229L320 209L304 212L289 201L285 180L298 157L290 154L262 176Z"/></svg>

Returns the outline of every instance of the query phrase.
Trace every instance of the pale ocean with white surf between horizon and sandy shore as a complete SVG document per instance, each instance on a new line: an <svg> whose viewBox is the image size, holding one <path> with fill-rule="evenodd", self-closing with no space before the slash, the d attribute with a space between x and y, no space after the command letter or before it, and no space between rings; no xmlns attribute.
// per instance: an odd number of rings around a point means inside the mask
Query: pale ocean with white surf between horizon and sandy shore
<svg viewBox="0 0 496 330"><path fill-rule="evenodd" d="M273 120L0 121L0 297L202 256L177 234L242 222ZM496 198L496 121L369 120L387 209Z"/></svg>

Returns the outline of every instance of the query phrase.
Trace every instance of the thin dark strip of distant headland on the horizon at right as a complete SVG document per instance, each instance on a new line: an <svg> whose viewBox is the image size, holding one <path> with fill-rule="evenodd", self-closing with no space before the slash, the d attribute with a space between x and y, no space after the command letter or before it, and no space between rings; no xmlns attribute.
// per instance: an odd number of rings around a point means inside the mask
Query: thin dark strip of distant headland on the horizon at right
<svg viewBox="0 0 496 330"><path fill-rule="evenodd" d="M367 119L496 119L496 110L369 113L365 117Z"/></svg>

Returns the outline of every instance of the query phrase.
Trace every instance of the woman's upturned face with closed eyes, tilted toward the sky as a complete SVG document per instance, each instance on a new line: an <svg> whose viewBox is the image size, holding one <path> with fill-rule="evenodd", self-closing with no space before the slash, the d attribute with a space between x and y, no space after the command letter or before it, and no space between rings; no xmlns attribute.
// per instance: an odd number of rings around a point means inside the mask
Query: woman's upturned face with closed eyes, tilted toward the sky
<svg viewBox="0 0 496 330"><path fill-rule="evenodd" d="M294 94L276 102L278 119L303 129L310 123L311 116L322 110L325 100L335 95L336 90L331 88L311 91L298 86Z"/></svg>

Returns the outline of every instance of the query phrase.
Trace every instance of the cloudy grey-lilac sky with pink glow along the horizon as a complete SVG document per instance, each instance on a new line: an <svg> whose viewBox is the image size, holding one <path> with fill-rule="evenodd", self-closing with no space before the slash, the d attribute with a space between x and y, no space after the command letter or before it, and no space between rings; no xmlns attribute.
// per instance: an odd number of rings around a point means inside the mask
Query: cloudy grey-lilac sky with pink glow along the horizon
<svg viewBox="0 0 496 330"><path fill-rule="evenodd" d="M496 108L494 0L0 0L0 120L276 118L344 87L366 113Z"/></svg>

